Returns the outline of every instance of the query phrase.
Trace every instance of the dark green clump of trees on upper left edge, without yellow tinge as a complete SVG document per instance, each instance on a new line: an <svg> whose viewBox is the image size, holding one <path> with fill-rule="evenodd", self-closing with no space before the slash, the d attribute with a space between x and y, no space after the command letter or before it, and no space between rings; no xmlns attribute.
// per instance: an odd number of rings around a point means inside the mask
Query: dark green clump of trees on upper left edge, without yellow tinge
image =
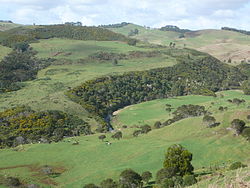
<svg viewBox="0 0 250 188"><path fill-rule="evenodd" d="M19 43L16 50L0 61L0 93L18 90L21 82L36 78L38 70L47 67L53 59L37 59L36 52L26 43Z"/></svg>

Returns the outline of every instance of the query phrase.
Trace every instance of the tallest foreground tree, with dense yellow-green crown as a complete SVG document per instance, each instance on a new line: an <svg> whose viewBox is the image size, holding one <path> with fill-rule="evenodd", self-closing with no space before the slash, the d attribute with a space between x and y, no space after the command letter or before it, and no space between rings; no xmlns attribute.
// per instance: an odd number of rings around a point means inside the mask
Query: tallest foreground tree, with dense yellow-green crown
<svg viewBox="0 0 250 188"><path fill-rule="evenodd" d="M179 144L170 146L165 155L164 168L172 168L177 175L193 174L192 153Z"/></svg>

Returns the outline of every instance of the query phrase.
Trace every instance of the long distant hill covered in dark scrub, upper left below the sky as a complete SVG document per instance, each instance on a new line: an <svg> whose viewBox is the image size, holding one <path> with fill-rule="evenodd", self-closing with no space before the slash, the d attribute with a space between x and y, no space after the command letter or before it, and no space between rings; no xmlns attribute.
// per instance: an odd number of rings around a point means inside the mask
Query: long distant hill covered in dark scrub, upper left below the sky
<svg viewBox="0 0 250 188"><path fill-rule="evenodd" d="M18 27L0 33L0 44L13 47L18 42L33 42L38 39L67 38L96 41L128 41L122 34L100 27L71 25L42 25Z"/></svg>

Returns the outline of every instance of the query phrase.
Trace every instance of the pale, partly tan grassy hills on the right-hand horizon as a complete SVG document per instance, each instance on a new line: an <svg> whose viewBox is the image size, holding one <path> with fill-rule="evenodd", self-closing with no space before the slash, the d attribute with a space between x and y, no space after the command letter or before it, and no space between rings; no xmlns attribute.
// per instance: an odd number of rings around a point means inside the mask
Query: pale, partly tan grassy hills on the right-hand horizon
<svg viewBox="0 0 250 188"><path fill-rule="evenodd" d="M179 38L180 34L176 32L147 29L134 24L111 30L127 35L135 28L139 30L139 35L134 38L145 42L163 45L175 42L179 48L185 45L188 48L210 53L222 61L231 58L235 64L241 60L250 59L250 36L237 32L210 29L189 33L185 38Z"/></svg>

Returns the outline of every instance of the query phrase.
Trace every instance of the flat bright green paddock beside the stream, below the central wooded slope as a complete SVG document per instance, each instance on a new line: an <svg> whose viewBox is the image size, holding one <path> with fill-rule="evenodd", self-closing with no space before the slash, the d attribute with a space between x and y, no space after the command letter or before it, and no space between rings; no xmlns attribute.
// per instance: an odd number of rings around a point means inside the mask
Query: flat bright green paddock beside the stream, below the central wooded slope
<svg viewBox="0 0 250 188"><path fill-rule="evenodd" d="M223 98L221 98L223 96ZM248 101L245 105L236 106L227 102L228 99L242 98ZM215 104L212 105L211 102ZM164 122L167 119L172 118L172 114L167 112L166 104L170 104L174 111L178 106L184 104L199 104L206 106L210 111L219 113L218 108L220 106L227 106L229 110L235 111L246 108L250 105L250 96L242 95L241 92L237 91L226 91L220 92L217 98L204 97L204 96L183 96L172 99L158 99L149 102L143 102L136 105L131 105L125 109L121 109L114 112L116 116L113 118L113 124L115 126L134 126L134 125L153 125L156 121Z"/></svg>

